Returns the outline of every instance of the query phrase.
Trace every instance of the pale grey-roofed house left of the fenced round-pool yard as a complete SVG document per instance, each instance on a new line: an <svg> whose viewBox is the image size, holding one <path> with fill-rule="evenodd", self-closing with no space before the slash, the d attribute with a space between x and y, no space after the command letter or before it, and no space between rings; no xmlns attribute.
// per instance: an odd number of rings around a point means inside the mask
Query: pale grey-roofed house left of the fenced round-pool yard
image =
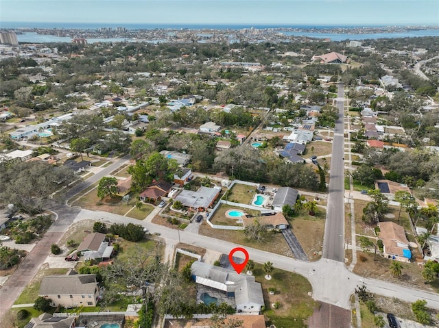
<svg viewBox="0 0 439 328"><path fill-rule="evenodd" d="M220 187L209 188L202 186L197 191L182 190L175 200L180 201L183 206L189 207L191 211L204 212L211 207L219 192L221 192Z"/></svg>

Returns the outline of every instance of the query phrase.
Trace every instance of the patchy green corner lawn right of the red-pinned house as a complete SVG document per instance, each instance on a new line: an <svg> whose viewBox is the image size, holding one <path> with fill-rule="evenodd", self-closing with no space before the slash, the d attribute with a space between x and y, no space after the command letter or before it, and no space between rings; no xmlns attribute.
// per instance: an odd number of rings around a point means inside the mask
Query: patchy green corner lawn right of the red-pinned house
<svg viewBox="0 0 439 328"><path fill-rule="evenodd" d="M312 292L311 284L304 277L274 268L272 279L264 278L265 273L261 264L256 264L253 275L261 283L265 300L265 319L267 325L278 328L307 327L308 318L316 308L317 303L309 295ZM274 295L270 295L268 288L274 288ZM279 302L274 309L272 304Z"/></svg>

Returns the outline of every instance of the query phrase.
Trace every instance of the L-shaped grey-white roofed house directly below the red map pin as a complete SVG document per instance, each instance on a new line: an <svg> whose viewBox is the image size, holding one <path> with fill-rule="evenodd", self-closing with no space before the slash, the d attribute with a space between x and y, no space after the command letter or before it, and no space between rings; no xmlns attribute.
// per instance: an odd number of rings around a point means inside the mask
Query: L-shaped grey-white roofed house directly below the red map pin
<svg viewBox="0 0 439 328"><path fill-rule="evenodd" d="M246 274L196 261L191 266L191 277L199 285L234 297L238 313L259 314L264 306L261 283Z"/></svg>

